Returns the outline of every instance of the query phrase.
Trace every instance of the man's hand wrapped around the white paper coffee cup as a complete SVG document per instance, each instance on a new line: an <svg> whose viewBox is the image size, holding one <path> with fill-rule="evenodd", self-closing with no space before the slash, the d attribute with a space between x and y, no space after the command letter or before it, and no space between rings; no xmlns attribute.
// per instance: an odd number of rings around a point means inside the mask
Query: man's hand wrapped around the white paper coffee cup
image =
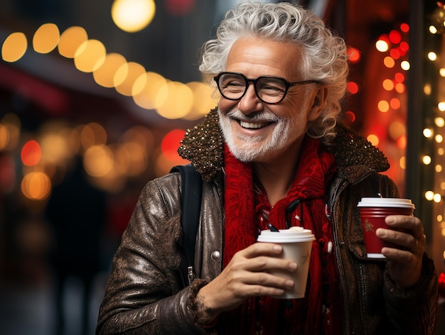
<svg viewBox="0 0 445 335"><path fill-rule="evenodd" d="M283 248L274 243L254 243L238 251L217 278L202 287L195 300L196 321L211 324L218 315L249 297L283 295L292 280L271 275L272 269L294 272L296 263L279 258Z"/></svg>

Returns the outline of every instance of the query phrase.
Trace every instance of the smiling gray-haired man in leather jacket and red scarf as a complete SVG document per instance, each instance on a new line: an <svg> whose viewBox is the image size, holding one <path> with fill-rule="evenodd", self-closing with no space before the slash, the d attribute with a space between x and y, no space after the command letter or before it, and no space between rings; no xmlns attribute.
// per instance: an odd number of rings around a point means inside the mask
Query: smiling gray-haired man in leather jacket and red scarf
<svg viewBox="0 0 445 335"><path fill-rule="evenodd" d="M218 109L188 132L180 153L203 177L195 279L181 273L181 178L141 194L100 309L97 334L432 334L436 273L422 223L389 216L377 235L397 248L366 257L357 204L397 197L378 172L387 160L337 122L345 43L290 4L241 4L204 45ZM304 226L313 242L306 297L279 300L295 271L267 224Z"/></svg>

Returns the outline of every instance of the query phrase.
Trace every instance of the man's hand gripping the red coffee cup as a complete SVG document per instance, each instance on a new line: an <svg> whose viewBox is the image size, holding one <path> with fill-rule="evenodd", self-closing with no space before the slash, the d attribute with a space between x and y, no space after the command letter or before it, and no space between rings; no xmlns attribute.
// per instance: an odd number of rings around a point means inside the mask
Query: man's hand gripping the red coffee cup
<svg viewBox="0 0 445 335"><path fill-rule="evenodd" d="M377 229L375 234L383 241L400 248L382 248L388 261L392 280L400 287L410 287L422 273L422 256L426 242L422 222L415 216L390 215L385 222L392 229Z"/></svg>

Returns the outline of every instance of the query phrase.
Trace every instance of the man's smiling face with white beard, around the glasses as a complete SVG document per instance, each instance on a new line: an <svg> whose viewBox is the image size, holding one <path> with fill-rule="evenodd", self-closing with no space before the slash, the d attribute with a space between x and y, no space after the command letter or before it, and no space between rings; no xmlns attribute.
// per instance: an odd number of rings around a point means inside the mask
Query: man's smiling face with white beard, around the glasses
<svg viewBox="0 0 445 335"><path fill-rule="evenodd" d="M263 38L237 40L227 57L225 71L247 78L282 77L289 82L304 79L299 46ZM298 159L308 121L316 119L324 103L317 84L293 86L279 104L265 104L251 83L244 97L218 104L220 126L235 157L244 162L269 163L279 158Z"/></svg>

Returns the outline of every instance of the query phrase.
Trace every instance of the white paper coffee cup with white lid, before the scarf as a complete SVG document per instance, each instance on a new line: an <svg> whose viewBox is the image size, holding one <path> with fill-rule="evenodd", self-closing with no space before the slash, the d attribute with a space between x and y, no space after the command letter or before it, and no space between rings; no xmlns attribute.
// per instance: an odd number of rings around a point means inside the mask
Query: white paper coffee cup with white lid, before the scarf
<svg viewBox="0 0 445 335"><path fill-rule="evenodd" d="M277 231L264 230L258 236L258 242L278 243L283 247L282 258L293 260L298 266L294 273L282 270L271 270L273 275L294 280L293 288L284 295L275 296L279 299L299 299L304 297L311 260L312 241L315 240L312 231L301 227L280 229Z"/></svg>

